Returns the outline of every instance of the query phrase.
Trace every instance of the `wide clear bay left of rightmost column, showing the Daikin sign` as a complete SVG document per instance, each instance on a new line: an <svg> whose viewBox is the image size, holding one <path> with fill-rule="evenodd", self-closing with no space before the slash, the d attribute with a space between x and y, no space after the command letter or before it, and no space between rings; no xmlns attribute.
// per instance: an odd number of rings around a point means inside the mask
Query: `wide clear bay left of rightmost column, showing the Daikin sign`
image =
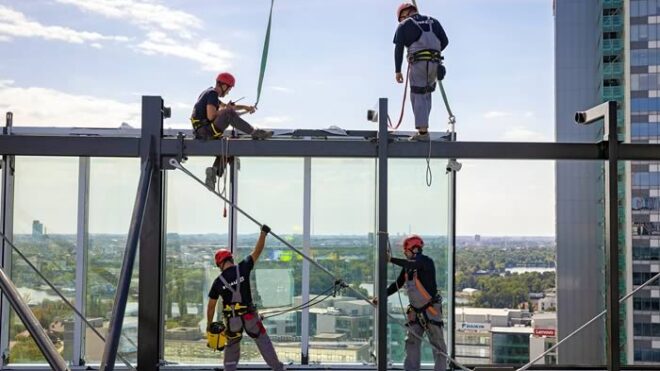
<svg viewBox="0 0 660 371"><path fill-rule="evenodd" d="M463 161L459 362L523 365L603 310L603 182L602 162ZM604 325L597 321L536 364L604 364Z"/></svg>

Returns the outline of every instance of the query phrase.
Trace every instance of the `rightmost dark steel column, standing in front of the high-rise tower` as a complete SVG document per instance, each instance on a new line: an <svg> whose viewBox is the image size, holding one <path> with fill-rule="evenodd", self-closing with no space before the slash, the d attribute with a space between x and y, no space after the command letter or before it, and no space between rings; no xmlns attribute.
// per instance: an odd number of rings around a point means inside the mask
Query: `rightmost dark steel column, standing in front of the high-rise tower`
<svg viewBox="0 0 660 371"><path fill-rule="evenodd" d="M608 142L608 161L605 171L605 256L607 270L607 368L621 368L619 349L619 192L618 159L619 138L617 135L616 102L607 102L604 117L605 136Z"/></svg>

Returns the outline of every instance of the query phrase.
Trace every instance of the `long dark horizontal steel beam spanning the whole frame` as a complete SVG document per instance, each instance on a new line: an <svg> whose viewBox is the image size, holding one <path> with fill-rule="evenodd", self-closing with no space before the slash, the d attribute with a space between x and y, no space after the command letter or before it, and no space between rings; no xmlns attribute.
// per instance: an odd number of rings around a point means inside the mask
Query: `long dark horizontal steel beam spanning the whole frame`
<svg viewBox="0 0 660 371"><path fill-rule="evenodd" d="M0 135L0 155L139 157L139 138ZM183 143L183 149L181 148ZM161 140L161 154L215 156L225 141ZM394 140L390 158L425 158L428 142ZM230 156L376 158L377 144L356 139L272 139L229 141ZM432 142L431 158L492 160L607 160L604 143ZM620 160L659 161L660 144L620 144Z"/></svg>

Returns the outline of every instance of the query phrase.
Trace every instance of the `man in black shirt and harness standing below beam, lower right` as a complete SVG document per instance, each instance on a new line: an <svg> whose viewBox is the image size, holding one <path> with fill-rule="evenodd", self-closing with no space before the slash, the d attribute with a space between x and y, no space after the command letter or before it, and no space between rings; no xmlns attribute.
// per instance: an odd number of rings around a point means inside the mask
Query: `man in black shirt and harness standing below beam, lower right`
<svg viewBox="0 0 660 371"><path fill-rule="evenodd" d="M420 369L422 336L426 333L434 347L434 370L445 371L447 369L447 346L442 332L442 298L437 292L435 283L435 264L431 258L423 254L423 248L422 238L412 235L403 241L403 253L406 259L388 256L388 260L392 264L401 267L401 273L396 282L387 288L387 296L405 288L410 300L406 311L408 335L406 336L404 369L406 371ZM374 304L377 304L378 298L374 298L373 301Z"/></svg>

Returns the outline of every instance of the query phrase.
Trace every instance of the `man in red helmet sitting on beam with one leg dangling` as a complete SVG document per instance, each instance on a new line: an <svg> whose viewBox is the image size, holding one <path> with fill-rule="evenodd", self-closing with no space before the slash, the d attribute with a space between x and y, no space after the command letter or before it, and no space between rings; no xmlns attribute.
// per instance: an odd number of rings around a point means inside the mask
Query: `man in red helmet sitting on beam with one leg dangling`
<svg viewBox="0 0 660 371"><path fill-rule="evenodd" d="M199 95L190 117L195 139L220 139L229 125L252 135L254 139L266 139L273 136L271 130L256 129L240 117L241 113L254 113L256 107L238 105L231 101L228 103L220 101L220 98L229 94L234 85L236 85L234 76L222 72L215 79L215 86L204 90ZM213 166L206 168L205 183L207 187L215 188L216 177L222 176L226 162L227 159L223 156L217 156Z"/></svg>

